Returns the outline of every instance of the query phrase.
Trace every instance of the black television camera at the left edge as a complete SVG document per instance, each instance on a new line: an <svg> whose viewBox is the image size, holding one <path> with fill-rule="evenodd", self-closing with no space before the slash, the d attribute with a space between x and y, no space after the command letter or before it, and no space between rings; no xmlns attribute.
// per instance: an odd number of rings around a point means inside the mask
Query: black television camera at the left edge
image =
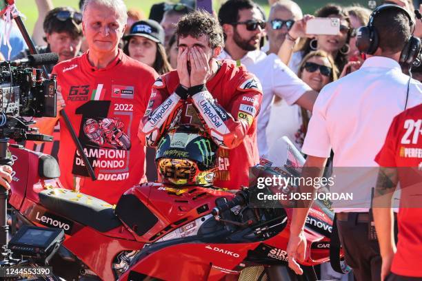
<svg viewBox="0 0 422 281"><path fill-rule="evenodd" d="M57 63L57 54L32 54L25 59L0 63L0 139L52 141L29 127L32 117L55 117L55 76L43 76L37 65Z"/></svg>

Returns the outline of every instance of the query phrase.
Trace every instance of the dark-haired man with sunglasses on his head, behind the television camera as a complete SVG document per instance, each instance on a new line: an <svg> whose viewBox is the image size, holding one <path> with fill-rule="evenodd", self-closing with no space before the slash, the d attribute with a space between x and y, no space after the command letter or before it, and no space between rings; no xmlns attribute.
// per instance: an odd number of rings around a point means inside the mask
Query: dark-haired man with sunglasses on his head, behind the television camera
<svg viewBox="0 0 422 281"><path fill-rule="evenodd" d="M55 52L59 54L59 63L79 56L82 43L82 14L70 7L54 8L43 21L47 46L37 46L39 54ZM20 52L13 59L28 56L29 50ZM46 65L48 72L54 65Z"/></svg>

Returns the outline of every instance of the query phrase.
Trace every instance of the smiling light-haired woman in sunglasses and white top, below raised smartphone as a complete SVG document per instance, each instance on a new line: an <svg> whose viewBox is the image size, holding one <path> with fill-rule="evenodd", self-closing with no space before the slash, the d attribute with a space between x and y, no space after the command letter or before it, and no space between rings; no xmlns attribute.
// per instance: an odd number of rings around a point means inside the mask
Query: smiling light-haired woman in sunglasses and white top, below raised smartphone
<svg viewBox="0 0 422 281"><path fill-rule="evenodd" d="M312 90L319 92L328 83L338 78L337 67L331 56L323 50L307 54L299 65L297 74ZM268 144L282 136L288 138L300 149L308 128L310 112L299 105L288 105L281 98L274 99L270 122L267 127ZM283 120L283 122L280 122Z"/></svg>

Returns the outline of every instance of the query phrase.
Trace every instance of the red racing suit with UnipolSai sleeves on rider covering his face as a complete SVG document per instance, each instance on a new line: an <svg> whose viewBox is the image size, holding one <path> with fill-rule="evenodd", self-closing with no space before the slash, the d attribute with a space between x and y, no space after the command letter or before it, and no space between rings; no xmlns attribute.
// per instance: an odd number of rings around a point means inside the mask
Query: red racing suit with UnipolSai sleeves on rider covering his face
<svg viewBox="0 0 422 281"><path fill-rule="evenodd" d="M256 117L261 84L232 61L218 63L217 74L206 85L191 87L186 99L181 98L183 89L177 71L159 77L138 135L141 142L154 147L177 123L203 126L220 147L214 186L239 189L248 186L249 167L259 162Z"/></svg>

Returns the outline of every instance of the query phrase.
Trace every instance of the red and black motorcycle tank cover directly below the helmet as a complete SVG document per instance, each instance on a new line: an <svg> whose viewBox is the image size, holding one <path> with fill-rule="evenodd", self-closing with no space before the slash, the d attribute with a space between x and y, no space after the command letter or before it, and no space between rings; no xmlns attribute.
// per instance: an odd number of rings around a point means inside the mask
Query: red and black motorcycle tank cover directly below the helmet
<svg viewBox="0 0 422 281"><path fill-rule="evenodd" d="M230 200L233 196L230 191L209 187L174 189L157 183L144 183L123 194L115 213L132 231L135 239L154 242L185 223L209 214L217 198ZM138 214L137 218L133 216L134 211Z"/></svg>

